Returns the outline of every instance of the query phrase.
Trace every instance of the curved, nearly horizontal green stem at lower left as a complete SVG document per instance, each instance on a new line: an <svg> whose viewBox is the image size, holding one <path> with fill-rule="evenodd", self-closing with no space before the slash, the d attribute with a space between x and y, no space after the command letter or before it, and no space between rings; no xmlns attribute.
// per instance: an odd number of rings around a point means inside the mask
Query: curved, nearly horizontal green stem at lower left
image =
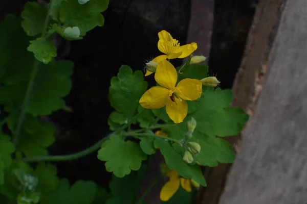
<svg viewBox="0 0 307 204"><path fill-rule="evenodd" d="M71 155L59 155L59 156L43 156L43 157L28 157L28 158L23 158L21 159L24 162L59 162L59 161L68 161L68 160L75 160L75 159L79 159L82 158L86 155L91 154L92 152L96 151L97 149L100 148L100 146L102 145L102 143L104 141L106 141L109 136L111 136L113 133L109 134L108 136L102 138L99 142L97 142L96 144L94 144L93 146L84 149L82 151L79 151L75 154L71 154Z"/></svg>

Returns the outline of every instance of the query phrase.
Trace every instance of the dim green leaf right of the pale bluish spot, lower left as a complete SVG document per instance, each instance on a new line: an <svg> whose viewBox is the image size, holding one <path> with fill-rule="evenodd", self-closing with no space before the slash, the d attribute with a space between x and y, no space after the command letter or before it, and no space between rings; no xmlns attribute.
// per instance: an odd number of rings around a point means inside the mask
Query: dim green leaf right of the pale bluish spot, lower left
<svg viewBox="0 0 307 204"><path fill-rule="evenodd" d="M38 192L55 191L59 184L57 169L52 164L46 164L45 162L38 163L33 175L38 177L38 185L36 187L36 191Z"/></svg>

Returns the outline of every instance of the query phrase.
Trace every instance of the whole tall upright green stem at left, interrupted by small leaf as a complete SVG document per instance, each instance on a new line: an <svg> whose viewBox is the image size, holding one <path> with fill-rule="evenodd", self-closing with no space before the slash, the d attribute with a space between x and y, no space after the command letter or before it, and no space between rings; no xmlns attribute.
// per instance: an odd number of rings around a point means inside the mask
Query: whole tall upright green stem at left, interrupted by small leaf
<svg viewBox="0 0 307 204"><path fill-rule="evenodd" d="M52 0L50 1L49 8L51 7L51 4L52 4ZM47 34L48 34L48 25L49 25L49 21L51 19L51 13L50 12L51 12L51 10L48 9L48 14L47 14L47 17L46 17L44 25L43 25L41 37L46 37ZM25 97L24 97L24 101L23 101L23 104L21 105L21 110L20 110L20 114L19 114L19 117L18 117L17 126L16 126L14 133L13 133L13 135L14 135L13 143L14 143L16 149L19 146L20 131L21 131L21 127L23 126L27 110L29 108L31 93L32 93L35 77L36 77L36 74L37 74L37 71L38 71L38 67L39 67L39 61L35 60L35 62L33 64L32 71L31 71L30 80L29 80L29 83L28 83L26 94L25 94Z"/></svg>

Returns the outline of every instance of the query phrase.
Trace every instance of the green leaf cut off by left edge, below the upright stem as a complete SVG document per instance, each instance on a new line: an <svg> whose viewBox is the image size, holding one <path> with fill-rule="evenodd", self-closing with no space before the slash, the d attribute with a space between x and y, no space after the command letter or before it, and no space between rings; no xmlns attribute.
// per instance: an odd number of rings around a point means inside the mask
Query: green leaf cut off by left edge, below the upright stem
<svg viewBox="0 0 307 204"><path fill-rule="evenodd" d="M15 151L10 137L0 134L0 185L4 184L4 170L12 164L11 154Z"/></svg>

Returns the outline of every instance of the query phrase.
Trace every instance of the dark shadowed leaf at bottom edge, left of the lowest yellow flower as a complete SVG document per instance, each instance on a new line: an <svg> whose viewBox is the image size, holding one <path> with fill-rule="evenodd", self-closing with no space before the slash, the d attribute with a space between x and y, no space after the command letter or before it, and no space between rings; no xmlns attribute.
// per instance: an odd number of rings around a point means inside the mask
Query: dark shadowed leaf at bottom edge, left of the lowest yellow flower
<svg viewBox="0 0 307 204"><path fill-rule="evenodd" d="M106 201L106 204L134 204L146 170L147 166L142 165L140 170L131 172L123 178L113 175L113 179L109 183L112 197Z"/></svg>

